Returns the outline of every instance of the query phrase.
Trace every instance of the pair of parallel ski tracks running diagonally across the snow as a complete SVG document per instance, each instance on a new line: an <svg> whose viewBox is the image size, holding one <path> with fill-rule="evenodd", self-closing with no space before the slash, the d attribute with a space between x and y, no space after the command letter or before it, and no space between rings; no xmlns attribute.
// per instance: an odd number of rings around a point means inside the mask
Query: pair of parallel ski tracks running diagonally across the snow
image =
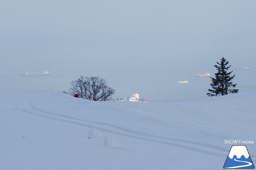
<svg viewBox="0 0 256 170"><path fill-rule="evenodd" d="M20 103L16 103L15 108L28 114L33 114L36 116L40 116L40 117L44 117L52 120L58 120L58 121L80 125L88 128L94 127L97 130L100 130L103 132L113 133L113 134L122 135L130 138L134 138L134 139L149 141L149 142L162 143L165 145L174 146L174 147L187 149L191 151L196 151L199 153L217 156L217 157L226 156L224 154L226 152L224 148L217 147L214 145L207 145L205 143L200 143L200 142L166 138L166 137L151 135L151 134L147 134L139 131L129 130L127 128L123 128L123 127L112 125L112 124L83 120L83 119L78 119L70 116L63 116L61 114L51 113L39 108L35 108L32 101L22 101L22 106L24 106L24 104L25 106L28 106L26 109L21 109ZM209 151L209 149L212 149L212 151ZM224 153L220 154L220 151L223 151Z"/></svg>

